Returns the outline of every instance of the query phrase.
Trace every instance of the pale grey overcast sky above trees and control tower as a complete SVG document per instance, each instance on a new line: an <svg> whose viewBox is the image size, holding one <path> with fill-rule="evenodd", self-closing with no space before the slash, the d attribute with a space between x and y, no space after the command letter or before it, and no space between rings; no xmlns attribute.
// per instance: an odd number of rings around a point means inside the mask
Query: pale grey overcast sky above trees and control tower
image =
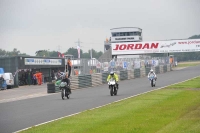
<svg viewBox="0 0 200 133"><path fill-rule="evenodd" d="M0 0L0 48L35 55L102 51L110 29L140 27L143 41L200 34L200 0Z"/></svg>

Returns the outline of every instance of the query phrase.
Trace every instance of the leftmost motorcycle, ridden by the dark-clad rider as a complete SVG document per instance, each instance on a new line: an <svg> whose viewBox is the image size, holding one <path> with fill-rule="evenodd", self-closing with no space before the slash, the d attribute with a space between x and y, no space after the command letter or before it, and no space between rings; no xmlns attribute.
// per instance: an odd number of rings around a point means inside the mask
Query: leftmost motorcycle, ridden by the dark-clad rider
<svg viewBox="0 0 200 133"><path fill-rule="evenodd" d="M61 90L61 97L62 99L64 100L65 97L67 97L67 99L69 99L69 95L71 94L70 93L70 85L67 85L66 82L61 82L60 85L59 85L59 88Z"/></svg>

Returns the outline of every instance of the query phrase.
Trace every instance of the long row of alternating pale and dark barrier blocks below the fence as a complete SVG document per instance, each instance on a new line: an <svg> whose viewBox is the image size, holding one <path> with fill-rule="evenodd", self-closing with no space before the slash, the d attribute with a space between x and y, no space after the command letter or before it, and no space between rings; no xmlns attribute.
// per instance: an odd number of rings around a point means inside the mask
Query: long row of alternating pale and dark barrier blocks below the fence
<svg viewBox="0 0 200 133"><path fill-rule="evenodd" d="M148 75L151 68L141 68L141 69L134 69L134 70L126 70L126 71L117 71L119 80L127 80L127 79L134 79L145 77ZM171 71L170 65L162 65L152 68L156 74L158 73L165 73ZM107 83L108 72L105 73L94 73L91 75L82 75L82 76L72 76L71 79L71 89L81 89L87 88L92 86L98 86L101 84ZM52 88L49 85L49 93L55 93L59 91L52 91Z"/></svg>

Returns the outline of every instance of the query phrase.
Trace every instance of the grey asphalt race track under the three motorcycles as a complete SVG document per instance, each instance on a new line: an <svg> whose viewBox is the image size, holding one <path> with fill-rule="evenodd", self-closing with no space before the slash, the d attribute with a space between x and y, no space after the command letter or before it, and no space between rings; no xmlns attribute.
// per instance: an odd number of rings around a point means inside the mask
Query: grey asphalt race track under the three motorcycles
<svg viewBox="0 0 200 133"><path fill-rule="evenodd" d="M147 77L119 82L117 96L110 96L107 84L72 91L70 99L60 93L0 103L0 133L11 133L53 119L102 106L133 95L200 76L200 66L157 74L156 87ZM9 93L7 90L6 93Z"/></svg>

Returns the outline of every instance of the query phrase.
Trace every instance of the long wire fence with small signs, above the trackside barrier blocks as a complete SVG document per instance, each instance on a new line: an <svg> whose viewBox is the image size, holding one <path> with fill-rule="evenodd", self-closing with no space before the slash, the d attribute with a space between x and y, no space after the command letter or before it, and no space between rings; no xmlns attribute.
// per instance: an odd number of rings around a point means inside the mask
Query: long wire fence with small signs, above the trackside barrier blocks
<svg viewBox="0 0 200 133"><path fill-rule="evenodd" d="M169 64L169 57L154 57L154 58L116 58L110 59L74 59L72 60L73 68L71 75L91 75L94 73L106 73L110 71L132 71L135 73L143 73L143 71L137 69L149 70L151 67L155 67L155 71L159 71L157 68L160 65ZM166 71L166 68L162 68L161 71ZM140 72L139 72L140 71ZM135 74L133 74L135 75ZM129 75L130 76L130 75ZM137 77L137 76L136 76Z"/></svg>

